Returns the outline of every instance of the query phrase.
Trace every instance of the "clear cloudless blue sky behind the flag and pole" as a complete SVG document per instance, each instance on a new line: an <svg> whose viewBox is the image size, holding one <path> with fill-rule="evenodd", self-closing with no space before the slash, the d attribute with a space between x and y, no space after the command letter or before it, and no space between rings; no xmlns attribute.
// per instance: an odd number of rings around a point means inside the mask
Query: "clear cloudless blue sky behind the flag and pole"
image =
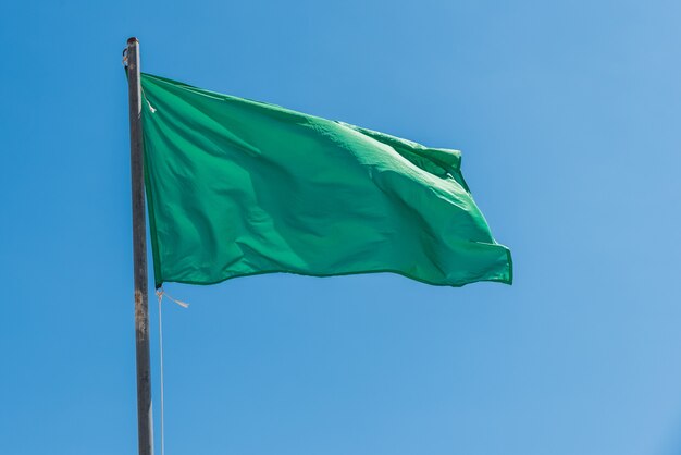
<svg viewBox="0 0 681 455"><path fill-rule="evenodd" d="M678 1L5 1L0 453L134 454L121 51L463 151L516 283L166 285L166 453L681 453ZM158 436L157 312L151 300ZM159 451L157 439L157 452Z"/></svg>

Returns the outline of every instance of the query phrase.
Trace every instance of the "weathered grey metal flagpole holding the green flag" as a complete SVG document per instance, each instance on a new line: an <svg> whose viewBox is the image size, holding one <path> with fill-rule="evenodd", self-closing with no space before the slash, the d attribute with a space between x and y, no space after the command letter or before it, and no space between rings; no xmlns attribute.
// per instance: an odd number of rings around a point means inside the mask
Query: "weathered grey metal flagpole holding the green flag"
<svg viewBox="0 0 681 455"><path fill-rule="evenodd" d="M139 455L153 454L151 367L149 365L149 310L147 286L147 232L141 142L139 41L127 40L127 94L131 119L131 175L133 187L133 263L135 281L135 351L137 365L137 434Z"/></svg>

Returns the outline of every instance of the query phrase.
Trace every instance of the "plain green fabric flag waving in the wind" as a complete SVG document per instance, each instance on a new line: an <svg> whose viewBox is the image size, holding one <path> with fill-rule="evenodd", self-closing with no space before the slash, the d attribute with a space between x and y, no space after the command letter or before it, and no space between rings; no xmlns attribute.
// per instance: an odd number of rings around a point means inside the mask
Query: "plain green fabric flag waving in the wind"
<svg viewBox="0 0 681 455"><path fill-rule="evenodd" d="M141 75L157 286L288 272L511 283L457 150Z"/></svg>

